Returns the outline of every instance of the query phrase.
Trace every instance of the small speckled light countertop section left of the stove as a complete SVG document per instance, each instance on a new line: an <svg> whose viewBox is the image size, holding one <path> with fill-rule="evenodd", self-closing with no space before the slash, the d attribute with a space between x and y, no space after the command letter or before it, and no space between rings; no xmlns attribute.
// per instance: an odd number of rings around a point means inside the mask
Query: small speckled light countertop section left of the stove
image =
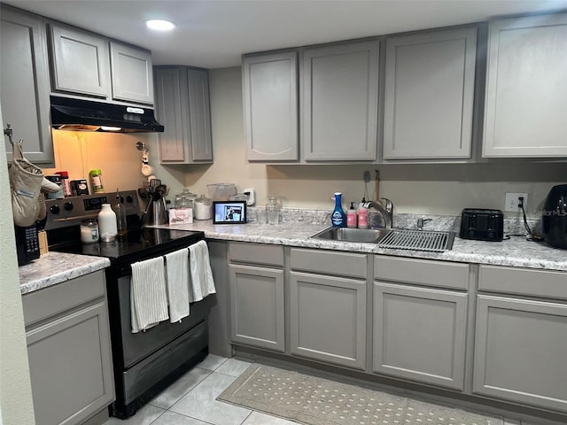
<svg viewBox="0 0 567 425"><path fill-rule="evenodd" d="M101 257L47 252L39 259L19 267L19 289L24 295L108 266L110 260Z"/></svg>

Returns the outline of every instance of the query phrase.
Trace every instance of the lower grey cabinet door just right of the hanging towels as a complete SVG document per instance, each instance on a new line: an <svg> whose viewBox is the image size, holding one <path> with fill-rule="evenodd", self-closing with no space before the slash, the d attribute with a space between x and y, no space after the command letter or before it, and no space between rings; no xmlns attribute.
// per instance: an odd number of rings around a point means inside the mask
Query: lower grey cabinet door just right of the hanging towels
<svg viewBox="0 0 567 425"><path fill-rule="evenodd" d="M232 342L283 352L283 270L230 265L229 282Z"/></svg>

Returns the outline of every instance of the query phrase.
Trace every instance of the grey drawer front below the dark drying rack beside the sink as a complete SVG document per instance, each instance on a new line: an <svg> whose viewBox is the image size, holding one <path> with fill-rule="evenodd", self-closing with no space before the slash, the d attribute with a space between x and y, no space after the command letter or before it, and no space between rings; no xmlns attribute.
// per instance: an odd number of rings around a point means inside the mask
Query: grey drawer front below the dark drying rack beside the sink
<svg viewBox="0 0 567 425"><path fill-rule="evenodd" d="M374 277L379 280L467 290L469 265L427 259L395 259L376 256Z"/></svg>

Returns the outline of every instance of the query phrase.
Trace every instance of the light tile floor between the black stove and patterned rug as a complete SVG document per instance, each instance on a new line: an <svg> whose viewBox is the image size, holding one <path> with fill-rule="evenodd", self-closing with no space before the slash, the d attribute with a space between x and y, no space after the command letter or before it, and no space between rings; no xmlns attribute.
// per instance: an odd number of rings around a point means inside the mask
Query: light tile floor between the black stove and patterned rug
<svg viewBox="0 0 567 425"><path fill-rule="evenodd" d="M215 400L250 364L209 354L134 416L104 425L297 425Z"/></svg>

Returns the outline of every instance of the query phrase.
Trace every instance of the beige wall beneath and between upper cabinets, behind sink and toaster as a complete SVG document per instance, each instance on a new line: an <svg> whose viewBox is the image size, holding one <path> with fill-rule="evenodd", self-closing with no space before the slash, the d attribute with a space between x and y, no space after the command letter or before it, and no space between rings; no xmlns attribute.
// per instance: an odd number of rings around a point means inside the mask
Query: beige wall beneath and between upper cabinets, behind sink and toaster
<svg viewBox="0 0 567 425"><path fill-rule="evenodd" d="M206 193L207 183L234 182L239 189L254 187L259 204L268 192L282 198L284 207L330 209L335 191L345 201L360 201L362 174L374 179L380 171L380 195L392 199L398 213L458 215L465 207L503 209L506 192L527 192L528 213L547 196L551 186L564 182L565 164L463 164L381 166L264 166L245 159L241 73L239 67L210 71L214 165L183 166L185 184ZM172 170L172 167L163 167ZM563 179L563 180L561 180ZM372 197L374 181L369 183Z"/></svg>

